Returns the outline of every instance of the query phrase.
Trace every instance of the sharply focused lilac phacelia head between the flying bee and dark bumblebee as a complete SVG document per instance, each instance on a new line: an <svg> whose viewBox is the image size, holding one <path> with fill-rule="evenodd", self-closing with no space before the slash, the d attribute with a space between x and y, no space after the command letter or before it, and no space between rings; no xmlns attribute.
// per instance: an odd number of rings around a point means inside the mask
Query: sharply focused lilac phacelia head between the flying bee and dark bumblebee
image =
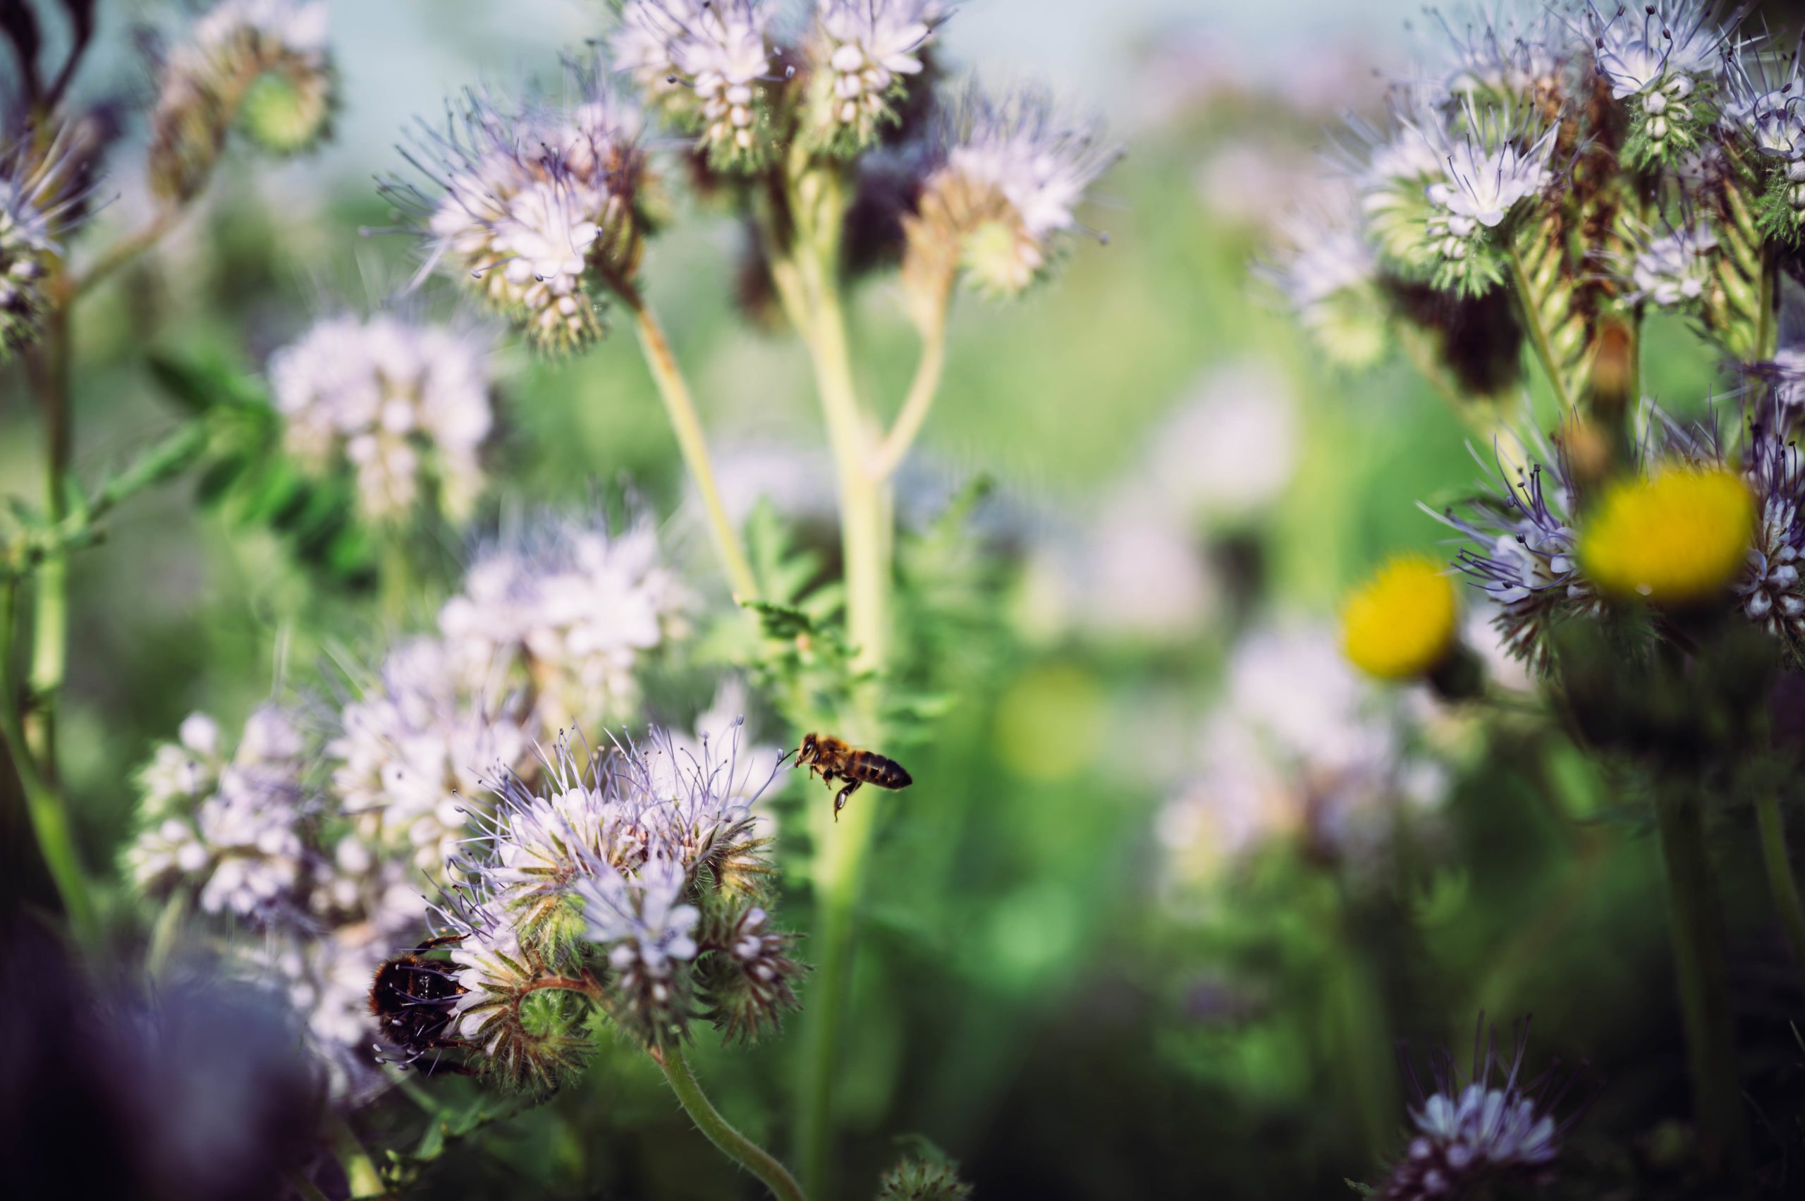
<svg viewBox="0 0 1805 1201"><path fill-rule="evenodd" d="M587 992L648 1046L682 1040L700 1015L749 1038L796 1004L789 939L765 930L767 840L751 815L774 766L740 757L738 722L715 733L699 755L661 730L605 755L565 739L536 786L500 784L469 880L440 912L457 943L446 1029L486 1071L542 1085L570 1066L576 1020L549 1038L522 1015L545 981Z"/></svg>

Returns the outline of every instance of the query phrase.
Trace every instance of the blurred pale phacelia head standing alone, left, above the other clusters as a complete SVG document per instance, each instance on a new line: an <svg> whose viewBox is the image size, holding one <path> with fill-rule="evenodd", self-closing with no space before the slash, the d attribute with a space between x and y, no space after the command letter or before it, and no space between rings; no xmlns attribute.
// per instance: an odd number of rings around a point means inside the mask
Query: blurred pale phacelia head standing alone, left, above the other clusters
<svg viewBox="0 0 1805 1201"><path fill-rule="evenodd" d="M269 377L291 453L314 471L348 468L368 518L469 515L495 417L487 354L467 331L329 318L276 350Z"/></svg>

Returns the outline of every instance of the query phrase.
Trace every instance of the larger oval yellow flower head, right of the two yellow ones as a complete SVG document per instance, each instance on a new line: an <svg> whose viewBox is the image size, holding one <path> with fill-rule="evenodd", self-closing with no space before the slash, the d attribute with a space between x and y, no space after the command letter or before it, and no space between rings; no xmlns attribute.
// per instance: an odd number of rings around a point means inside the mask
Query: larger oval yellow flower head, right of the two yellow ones
<svg viewBox="0 0 1805 1201"><path fill-rule="evenodd" d="M1724 592L1754 538L1735 471L1670 466L1619 480L1579 527L1579 569L1610 596L1689 605Z"/></svg>

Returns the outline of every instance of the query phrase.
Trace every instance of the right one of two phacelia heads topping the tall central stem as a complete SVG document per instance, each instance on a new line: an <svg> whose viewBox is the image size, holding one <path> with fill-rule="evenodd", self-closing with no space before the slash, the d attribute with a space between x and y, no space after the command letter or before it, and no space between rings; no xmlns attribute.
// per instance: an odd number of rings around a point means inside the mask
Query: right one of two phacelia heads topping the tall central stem
<svg viewBox="0 0 1805 1201"><path fill-rule="evenodd" d="M946 16L940 0L825 0L810 51L810 135L838 154L870 146L897 119Z"/></svg>

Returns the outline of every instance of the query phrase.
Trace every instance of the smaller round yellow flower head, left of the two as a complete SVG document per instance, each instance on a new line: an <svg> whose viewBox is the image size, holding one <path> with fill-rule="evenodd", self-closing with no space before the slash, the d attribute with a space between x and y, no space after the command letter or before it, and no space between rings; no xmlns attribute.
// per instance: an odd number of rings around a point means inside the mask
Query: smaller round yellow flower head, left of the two
<svg viewBox="0 0 1805 1201"><path fill-rule="evenodd" d="M1455 583L1442 565L1401 554L1379 569L1341 610L1341 650L1379 679L1415 679L1455 650Z"/></svg>

